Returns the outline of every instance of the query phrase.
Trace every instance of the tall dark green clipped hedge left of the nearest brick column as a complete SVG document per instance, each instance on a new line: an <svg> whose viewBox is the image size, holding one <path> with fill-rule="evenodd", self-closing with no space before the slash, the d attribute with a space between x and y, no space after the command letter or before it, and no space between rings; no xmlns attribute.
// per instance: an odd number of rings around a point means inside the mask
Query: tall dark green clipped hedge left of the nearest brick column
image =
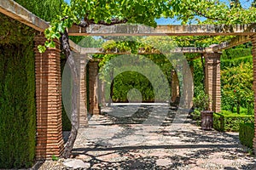
<svg viewBox="0 0 256 170"><path fill-rule="evenodd" d="M36 146L34 31L3 14L0 23L0 168L31 167Z"/></svg>

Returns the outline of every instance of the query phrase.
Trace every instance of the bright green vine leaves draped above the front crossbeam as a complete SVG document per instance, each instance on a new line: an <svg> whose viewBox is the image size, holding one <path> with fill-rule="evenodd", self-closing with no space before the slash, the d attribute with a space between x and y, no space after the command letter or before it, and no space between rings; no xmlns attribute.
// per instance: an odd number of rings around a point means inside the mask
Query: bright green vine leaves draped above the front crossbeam
<svg viewBox="0 0 256 170"><path fill-rule="evenodd" d="M183 24L192 21L198 24L252 24L256 21L253 4L250 8L241 8L239 1L231 1L229 5L218 0L71 0L70 4L61 3L61 14L55 15L55 20L44 32L49 40L45 47L54 47L52 40L60 38L61 33L73 25L87 27L93 24L111 26L133 23L156 26L155 19L161 17L177 17ZM199 20L198 17L206 20ZM43 52L45 47L39 50Z"/></svg>

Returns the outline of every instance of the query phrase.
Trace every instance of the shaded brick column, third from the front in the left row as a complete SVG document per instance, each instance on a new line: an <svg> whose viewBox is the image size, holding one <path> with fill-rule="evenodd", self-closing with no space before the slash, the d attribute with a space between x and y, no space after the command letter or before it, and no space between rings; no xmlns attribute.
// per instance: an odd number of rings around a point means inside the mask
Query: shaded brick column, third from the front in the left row
<svg viewBox="0 0 256 170"><path fill-rule="evenodd" d="M89 62L89 112L90 114L99 114L99 80L98 80L98 61Z"/></svg>

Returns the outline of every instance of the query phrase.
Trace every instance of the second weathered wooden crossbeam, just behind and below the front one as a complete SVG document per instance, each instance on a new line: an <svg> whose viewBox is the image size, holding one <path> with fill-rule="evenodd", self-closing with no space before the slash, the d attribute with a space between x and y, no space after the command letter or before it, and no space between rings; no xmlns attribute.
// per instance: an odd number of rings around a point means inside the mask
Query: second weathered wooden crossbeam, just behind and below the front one
<svg viewBox="0 0 256 170"><path fill-rule="evenodd" d="M153 50L151 52L139 49L137 54L172 54L172 53L212 53L212 48L175 48L170 51L161 53L159 50ZM118 48L112 50L105 50L103 48L81 48L80 54L131 54L129 51L121 52Z"/></svg>

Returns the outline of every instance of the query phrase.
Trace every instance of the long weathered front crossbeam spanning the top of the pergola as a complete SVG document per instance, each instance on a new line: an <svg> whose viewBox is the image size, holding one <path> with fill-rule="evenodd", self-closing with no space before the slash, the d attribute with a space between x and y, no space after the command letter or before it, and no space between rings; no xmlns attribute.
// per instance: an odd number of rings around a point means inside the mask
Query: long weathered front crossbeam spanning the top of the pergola
<svg viewBox="0 0 256 170"><path fill-rule="evenodd" d="M251 25L189 25L157 26L142 25L91 25L87 28L73 26L68 29L70 36L236 36L252 35L255 28L246 31Z"/></svg>

